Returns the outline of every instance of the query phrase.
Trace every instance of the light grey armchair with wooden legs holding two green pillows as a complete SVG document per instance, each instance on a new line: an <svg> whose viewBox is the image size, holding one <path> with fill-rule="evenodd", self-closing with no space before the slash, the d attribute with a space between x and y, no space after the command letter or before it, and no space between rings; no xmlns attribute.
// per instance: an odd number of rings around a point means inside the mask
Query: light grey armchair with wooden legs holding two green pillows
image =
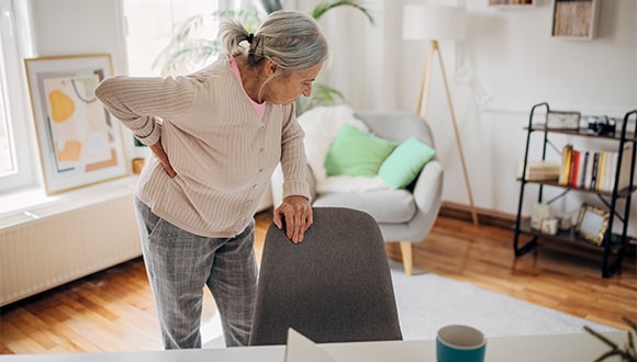
<svg viewBox="0 0 637 362"><path fill-rule="evenodd" d="M378 137L403 142L415 137L435 149L434 137L427 123L420 116L398 111L356 111ZM325 120L329 122L329 120ZM305 138L305 143L312 139ZM309 182L315 181L309 168ZM278 169L272 177L275 206L281 202L282 176ZM413 272L412 242L421 242L432 229L440 210L443 193L443 165L434 158L425 165L416 181L400 190L372 190L366 192L315 193L313 206L349 207L370 214L378 223L385 242L399 242L403 268Z"/></svg>

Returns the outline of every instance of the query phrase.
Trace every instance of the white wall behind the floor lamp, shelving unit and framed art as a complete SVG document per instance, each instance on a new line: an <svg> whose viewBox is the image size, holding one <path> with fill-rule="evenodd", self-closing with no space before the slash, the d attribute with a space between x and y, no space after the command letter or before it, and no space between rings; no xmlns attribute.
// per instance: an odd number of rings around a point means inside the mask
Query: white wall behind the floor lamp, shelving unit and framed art
<svg viewBox="0 0 637 362"><path fill-rule="evenodd" d="M118 0L32 1L38 55L107 52L113 55L115 73L125 72ZM415 109L426 44L402 39L402 7L407 2L418 1L367 1L375 26L349 9L332 11L322 21L335 53L324 76L353 106ZM487 2L460 0L469 12L468 37L440 46L476 205L515 214L523 127L534 104L547 101L554 110L613 116L637 108L637 1L602 1L597 37L580 42L550 36L550 0L513 10ZM456 77L456 69L461 76ZM443 199L467 204L439 68L434 66L433 73L426 117L445 165ZM556 207L577 211L582 199L574 195ZM629 234L637 236L635 204Z"/></svg>

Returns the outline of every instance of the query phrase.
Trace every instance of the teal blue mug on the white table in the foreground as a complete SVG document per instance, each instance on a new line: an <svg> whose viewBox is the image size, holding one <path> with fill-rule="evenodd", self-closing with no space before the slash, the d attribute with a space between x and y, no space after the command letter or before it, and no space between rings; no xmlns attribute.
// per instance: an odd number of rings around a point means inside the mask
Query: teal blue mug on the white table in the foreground
<svg viewBox="0 0 637 362"><path fill-rule="evenodd" d="M473 327L446 326L436 336L438 362L483 362L485 350L484 335Z"/></svg>

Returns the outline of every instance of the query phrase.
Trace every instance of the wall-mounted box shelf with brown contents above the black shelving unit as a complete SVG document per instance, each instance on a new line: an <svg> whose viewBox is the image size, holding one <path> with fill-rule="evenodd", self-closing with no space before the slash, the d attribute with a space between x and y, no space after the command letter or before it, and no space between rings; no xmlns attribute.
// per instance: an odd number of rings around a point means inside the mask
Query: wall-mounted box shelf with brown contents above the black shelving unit
<svg viewBox="0 0 637 362"><path fill-rule="evenodd" d="M555 0L554 37L592 39L596 35L601 0Z"/></svg>

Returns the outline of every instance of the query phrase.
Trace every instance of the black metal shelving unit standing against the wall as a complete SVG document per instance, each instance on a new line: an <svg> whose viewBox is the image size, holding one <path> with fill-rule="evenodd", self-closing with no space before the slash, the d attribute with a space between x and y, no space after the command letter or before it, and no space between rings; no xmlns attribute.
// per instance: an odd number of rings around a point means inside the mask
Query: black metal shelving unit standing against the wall
<svg viewBox="0 0 637 362"><path fill-rule="evenodd" d="M630 200L633 197L633 193L637 190L634 183L634 174L635 174L635 155L637 150L637 138L635 132L628 132L627 126L628 122L633 118L634 121L637 120L637 110L630 111L624 115L623 122L619 124L617 122L616 132L613 135L596 135L591 134L588 129L579 129L579 131L568 131L568 129L552 129L547 128L546 123L533 123L534 113L538 108L546 108L546 112L549 112L548 103L538 103L534 105L530 110L530 115L528 118L528 126L525 127L527 131L526 136L526 149L524 151L524 167L522 171L522 178L519 181L519 201L517 206L517 217L514 225L514 240L513 240L513 249L516 257L524 256L528 251L533 250L538 245L538 239L541 238L548 242L565 242L567 245L572 246L573 248L592 248L594 250L601 251L602 260L601 260L601 269L602 269L602 278L608 278L615 272L621 271L622 260L624 254L626 253L626 247L628 246L629 238L627 237L627 229L628 229L628 222L630 217ZM615 185L612 191L597 191L597 190L589 190L585 188L574 188L572 185L563 185L559 184L556 181L529 181L526 180L526 168L528 162L528 151L530 148L530 144L533 142L532 137L533 134L539 134L543 138L543 152L541 159L546 160L547 156L547 146L551 145L551 140L549 139L550 134L566 134L575 137L593 137L595 139L606 139L611 142L615 142L618 144L618 159L617 159L617 171L615 173L615 180L619 179L619 171L622 165L623 157L630 157L630 182L628 183L629 186L618 190L618 182L615 182ZM633 143L633 151L629 155L624 155L624 145L626 143ZM600 203L603 204L602 207L606 208L610 213L608 217L608 226L604 233L603 241L600 246L592 245L584 239L578 237L573 233L573 228L569 233L558 233L557 235L546 235L541 234L539 230L533 229L530 227L530 222L526 217L523 217L522 210L523 210L523 201L524 201L524 192L527 184L537 184L538 186L538 203L543 202L543 191L544 188L561 188L563 192L554 199L559 199L566 196L569 192L584 192L584 193L594 193L599 196ZM617 207L617 200L625 199L625 206L623 210L618 210ZM616 223L622 224L622 233L616 234L613 233L613 225ZM529 239L526 241L521 240L522 236L527 236Z"/></svg>

